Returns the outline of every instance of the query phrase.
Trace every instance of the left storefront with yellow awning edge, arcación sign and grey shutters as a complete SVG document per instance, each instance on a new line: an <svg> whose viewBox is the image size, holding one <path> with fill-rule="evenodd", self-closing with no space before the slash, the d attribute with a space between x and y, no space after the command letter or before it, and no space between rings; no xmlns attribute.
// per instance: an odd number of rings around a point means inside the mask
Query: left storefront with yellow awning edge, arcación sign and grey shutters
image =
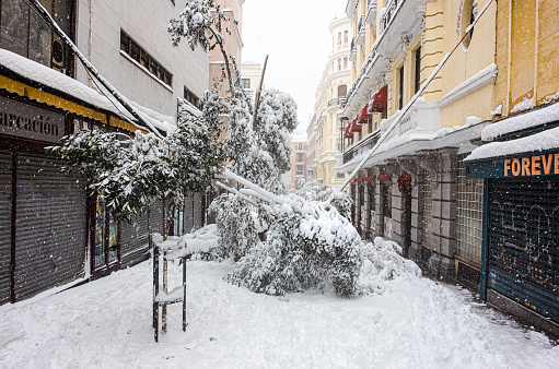
<svg viewBox="0 0 559 369"><path fill-rule="evenodd" d="M126 122L11 76L1 82L0 305L145 260L149 229L162 230L161 203L150 217L116 222L83 179L45 152L78 130L129 132L118 127Z"/></svg>

